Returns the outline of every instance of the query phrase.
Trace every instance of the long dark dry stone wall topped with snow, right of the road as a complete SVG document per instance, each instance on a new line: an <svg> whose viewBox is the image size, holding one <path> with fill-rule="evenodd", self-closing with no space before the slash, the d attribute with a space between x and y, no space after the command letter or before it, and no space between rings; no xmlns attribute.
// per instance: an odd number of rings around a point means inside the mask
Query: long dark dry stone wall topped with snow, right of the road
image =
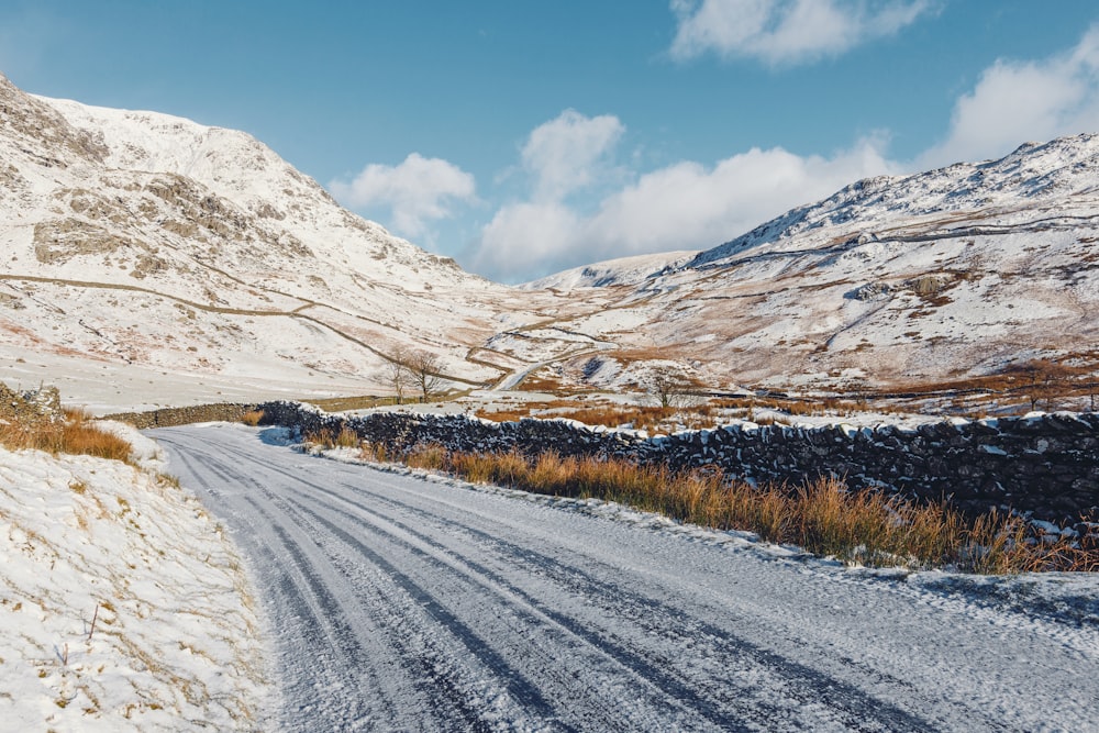
<svg viewBox="0 0 1099 733"><path fill-rule="evenodd" d="M493 423L464 415L326 414L291 402L256 406L265 422L302 433L340 431L389 449L437 443L454 451L618 456L676 468L719 466L726 474L797 485L837 476L853 488L882 487L910 498L951 500L966 511L1012 508L1035 519L1099 519L1099 414L1058 412L999 420L954 420L918 430L891 425L789 427L743 423L647 437L567 420Z"/></svg>

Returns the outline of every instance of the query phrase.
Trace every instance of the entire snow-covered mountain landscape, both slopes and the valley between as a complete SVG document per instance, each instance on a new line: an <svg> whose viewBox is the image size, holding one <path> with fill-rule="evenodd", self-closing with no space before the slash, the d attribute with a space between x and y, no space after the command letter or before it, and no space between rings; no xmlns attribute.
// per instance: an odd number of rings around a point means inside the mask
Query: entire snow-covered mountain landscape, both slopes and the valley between
<svg viewBox="0 0 1099 733"><path fill-rule="evenodd" d="M1099 362L1099 136L853 184L702 253L489 282L251 136L0 77L0 379L93 409L451 385L910 386Z"/></svg>

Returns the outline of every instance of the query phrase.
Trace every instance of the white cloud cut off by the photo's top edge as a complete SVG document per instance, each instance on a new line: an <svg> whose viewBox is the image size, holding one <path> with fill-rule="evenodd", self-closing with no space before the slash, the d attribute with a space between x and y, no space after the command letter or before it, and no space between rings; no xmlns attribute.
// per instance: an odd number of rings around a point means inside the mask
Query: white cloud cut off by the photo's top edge
<svg viewBox="0 0 1099 733"><path fill-rule="evenodd" d="M932 0L671 0L678 29L670 53L808 63L892 35L935 7Z"/></svg>

